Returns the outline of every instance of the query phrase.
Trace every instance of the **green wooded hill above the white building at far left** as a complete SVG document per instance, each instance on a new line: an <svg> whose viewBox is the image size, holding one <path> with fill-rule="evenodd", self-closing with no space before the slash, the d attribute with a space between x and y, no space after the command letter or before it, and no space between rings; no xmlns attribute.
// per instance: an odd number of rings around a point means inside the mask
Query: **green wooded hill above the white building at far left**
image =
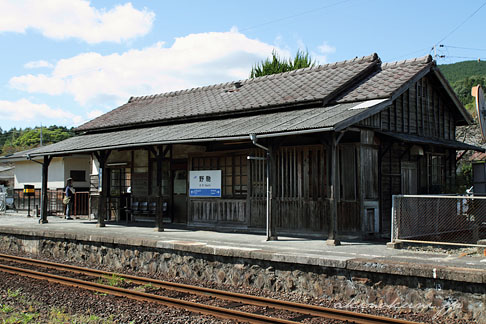
<svg viewBox="0 0 486 324"><path fill-rule="evenodd" d="M43 145L56 143L74 135L73 128L64 126L42 127ZM0 155L28 150L40 145L40 127L12 128L4 131L0 128Z"/></svg>

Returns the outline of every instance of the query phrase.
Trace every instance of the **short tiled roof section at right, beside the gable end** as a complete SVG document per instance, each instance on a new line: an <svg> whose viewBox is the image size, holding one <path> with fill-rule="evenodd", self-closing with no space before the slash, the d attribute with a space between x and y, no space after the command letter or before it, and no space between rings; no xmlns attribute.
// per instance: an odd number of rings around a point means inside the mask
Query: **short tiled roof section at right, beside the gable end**
<svg viewBox="0 0 486 324"><path fill-rule="evenodd" d="M430 55L412 60L381 64L379 70L356 84L336 102L390 98L398 89L432 64Z"/></svg>

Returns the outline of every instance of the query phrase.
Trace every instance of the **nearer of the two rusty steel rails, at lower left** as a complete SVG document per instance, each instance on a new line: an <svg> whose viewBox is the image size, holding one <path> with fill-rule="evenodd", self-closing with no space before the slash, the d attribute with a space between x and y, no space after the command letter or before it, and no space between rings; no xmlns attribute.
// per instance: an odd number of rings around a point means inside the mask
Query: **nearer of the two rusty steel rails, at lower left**
<svg viewBox="0 0 486 324"><path fill-rule="evenodd" d="M84 281L84 280L79 280L79 279L74 279L69 277L53 275L50 273L11 267L3 264L0 264L0 271L7 272L14 275L30 277L34 279L48 280L49 282L53 282L53 283L63 284L67 286L77 287L77 288L83 288L95 292L130 298L138 301L155 302L169 307L184 308L185 310L191 312L202 313L205 315L213 315L225 319L232 319L232 320L236 319L238 321L258 323L258 324L297 324L298 323L298 322L289 321L285 319L247 313L247 312L242 312L238 310L227 309L227 308L217 307L212 305L199 304L199 303L171 298L171 297L148 294L136 290L103 285L91 281Z"/></svg>

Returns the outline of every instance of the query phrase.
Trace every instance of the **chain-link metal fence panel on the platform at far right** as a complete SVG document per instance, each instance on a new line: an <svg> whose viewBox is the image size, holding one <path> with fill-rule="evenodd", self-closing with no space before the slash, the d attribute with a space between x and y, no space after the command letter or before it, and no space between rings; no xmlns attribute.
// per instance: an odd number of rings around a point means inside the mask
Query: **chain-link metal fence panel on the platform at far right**
<svg viewBox="0 0 486 324"><path fill-rule="evenodd" d="M391 232L392 242L477 246L486 239L486 197L394 195Z"/></svg>

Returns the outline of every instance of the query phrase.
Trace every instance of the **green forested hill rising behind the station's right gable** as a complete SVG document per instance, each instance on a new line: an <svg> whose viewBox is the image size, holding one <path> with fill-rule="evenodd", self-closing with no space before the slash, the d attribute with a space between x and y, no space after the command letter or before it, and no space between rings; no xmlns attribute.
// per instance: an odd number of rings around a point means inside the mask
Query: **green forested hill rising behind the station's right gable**
<svg viewBox="0 0 486 324"><path fill-rule="evenodd" d="M462 104L472 115L475 115L475 104L474 98L471 96L471 88L478 84L483 88L486 86L486 62L464 61L439 65L439 68Z"/></svg>

